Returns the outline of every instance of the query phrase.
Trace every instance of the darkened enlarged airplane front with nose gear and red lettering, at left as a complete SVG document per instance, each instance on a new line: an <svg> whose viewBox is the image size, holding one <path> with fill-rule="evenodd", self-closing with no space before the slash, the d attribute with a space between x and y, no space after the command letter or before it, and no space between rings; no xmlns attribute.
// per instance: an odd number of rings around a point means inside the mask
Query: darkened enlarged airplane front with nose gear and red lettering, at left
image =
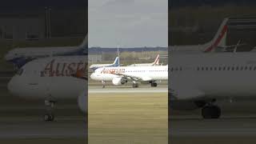
<svg viewBox="0 0 256 144"><path fill-rule="evenodd" d="M10 94L20 98L44 100L45 121L54 121L54 104L62 99L78 98L86 112L87 79L74 78L87 72L87 56L38 58L22 66L7 85ZM85 81L86 80L86 81Z"/></svg>

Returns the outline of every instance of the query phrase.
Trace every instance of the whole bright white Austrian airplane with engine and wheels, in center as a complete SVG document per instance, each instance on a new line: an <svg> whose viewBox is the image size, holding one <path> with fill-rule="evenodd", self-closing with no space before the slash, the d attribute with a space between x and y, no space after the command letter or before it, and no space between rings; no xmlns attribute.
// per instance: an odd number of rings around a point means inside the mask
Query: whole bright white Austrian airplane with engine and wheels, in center
<svg viewBox="0 0 256 144"><path fill-rule="evenodd" d="M118 66L102 67L94 71L90 78L102 81L103 88L106 81L114 85L123 85L133 82L133 87L138 87L138 82L158 86L157 81L168 79L168 66Z"/></svg>

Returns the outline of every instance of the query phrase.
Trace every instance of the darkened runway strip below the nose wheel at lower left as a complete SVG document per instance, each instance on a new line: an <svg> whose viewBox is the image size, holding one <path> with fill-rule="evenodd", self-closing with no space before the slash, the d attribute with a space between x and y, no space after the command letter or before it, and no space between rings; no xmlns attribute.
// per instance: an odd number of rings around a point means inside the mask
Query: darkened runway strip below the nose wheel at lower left
<svg viewBox="0 0 256 144"><path fill-rule="evenodd" d="M86 135L82 117L56 118L55 122L43 122L37 117L0 121L0 138L85 138Z"/></svg>

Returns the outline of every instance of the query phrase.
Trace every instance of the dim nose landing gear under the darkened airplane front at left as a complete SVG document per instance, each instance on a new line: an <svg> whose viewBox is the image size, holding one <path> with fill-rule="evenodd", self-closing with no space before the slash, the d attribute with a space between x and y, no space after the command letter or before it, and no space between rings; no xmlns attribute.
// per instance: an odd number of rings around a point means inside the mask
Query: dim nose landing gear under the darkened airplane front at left
<svg viewBox="0 0 256 144"><path fill-rule="evenodd" d="M55 101L45 100L46 113L44 114L44 121L52 122L54 121L54 104Z"/></svg>

